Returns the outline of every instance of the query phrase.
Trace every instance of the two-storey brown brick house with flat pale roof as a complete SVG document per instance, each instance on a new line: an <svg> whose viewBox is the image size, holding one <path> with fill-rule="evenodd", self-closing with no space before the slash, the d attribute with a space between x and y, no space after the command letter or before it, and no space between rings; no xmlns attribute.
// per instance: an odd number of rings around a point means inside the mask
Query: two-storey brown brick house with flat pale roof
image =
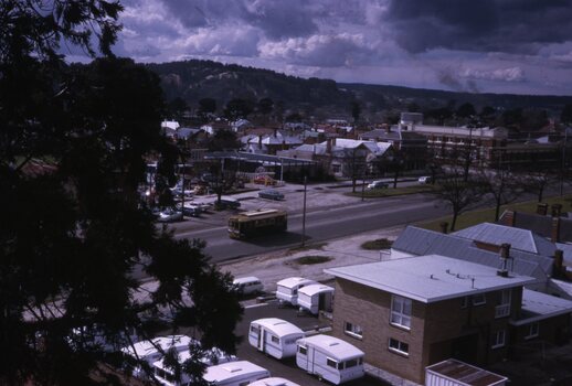
<svg viewBox="0 0 572 386"><path fill-rule="evenodd" d="M522 287L534 281L441 255L325 272L336 278L333 335L362 350L368 363L416 383L426 366L449 357L477 365L508 357Z"/></svg>

